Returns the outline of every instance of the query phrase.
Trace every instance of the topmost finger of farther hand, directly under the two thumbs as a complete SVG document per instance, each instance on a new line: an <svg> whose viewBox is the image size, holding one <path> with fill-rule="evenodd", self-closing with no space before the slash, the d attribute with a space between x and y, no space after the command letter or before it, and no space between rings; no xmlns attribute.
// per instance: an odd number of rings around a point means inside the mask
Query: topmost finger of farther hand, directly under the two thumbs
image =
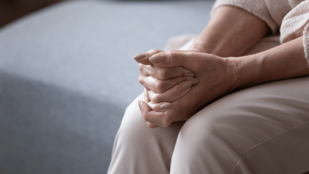
<svg viewBox="0 0 309 174"><path fill-rule="evenodd" d="M194 77L195 74L184 67L165 67L160 68L154 65L139 64L141 76L153 76L160 80L172 79L176 77Z"/></svg>

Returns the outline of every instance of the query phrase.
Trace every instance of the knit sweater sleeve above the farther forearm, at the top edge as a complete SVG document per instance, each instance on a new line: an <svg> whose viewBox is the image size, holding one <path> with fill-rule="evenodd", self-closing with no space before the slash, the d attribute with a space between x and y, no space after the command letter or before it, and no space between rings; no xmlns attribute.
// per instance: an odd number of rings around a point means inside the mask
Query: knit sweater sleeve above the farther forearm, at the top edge
<svg viewBox="0 0 309 174"><path fill-rule="evenodd" d="M264 0L217 0L211 14L213 14L215 9L220 6L234 6L248 11L249 13L265 21L272 30L273 34L277 31L278 26L272 19Z"/></svg>

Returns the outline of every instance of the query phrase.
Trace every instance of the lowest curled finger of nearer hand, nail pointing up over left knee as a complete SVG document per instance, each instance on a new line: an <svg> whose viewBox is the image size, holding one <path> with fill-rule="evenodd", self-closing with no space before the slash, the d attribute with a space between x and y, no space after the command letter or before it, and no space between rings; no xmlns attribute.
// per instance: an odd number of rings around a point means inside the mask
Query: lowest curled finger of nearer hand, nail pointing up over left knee
<svg viewBox="0 0 309 174"><path fill-rule="evenodd" d="M150 106L143 102L138 100L138 107L142 111L142 115L145 121L150 122L152 124L167 127L172 122L172 117L170 114L165 112L155 112L151 111Z"/></svg>

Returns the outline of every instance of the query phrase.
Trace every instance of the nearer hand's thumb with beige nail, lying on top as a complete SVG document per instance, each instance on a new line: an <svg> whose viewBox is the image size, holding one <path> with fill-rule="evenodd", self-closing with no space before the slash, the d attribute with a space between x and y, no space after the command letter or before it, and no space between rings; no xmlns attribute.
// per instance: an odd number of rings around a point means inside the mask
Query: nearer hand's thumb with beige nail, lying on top
<svg viewBox="0 0 309 174"><path fill-rule="evenodd" d="M212 54L208 54L209 58ZM203 58L206 53L196 53L196 52L177 52L169 51L155 54L149 58L149 61L157 67L178 67L182 66L188 69L194 69L197 62L197 58ZM195 59L192 59L192 58ZM204 58L205 59L205 58Z"/></svg>

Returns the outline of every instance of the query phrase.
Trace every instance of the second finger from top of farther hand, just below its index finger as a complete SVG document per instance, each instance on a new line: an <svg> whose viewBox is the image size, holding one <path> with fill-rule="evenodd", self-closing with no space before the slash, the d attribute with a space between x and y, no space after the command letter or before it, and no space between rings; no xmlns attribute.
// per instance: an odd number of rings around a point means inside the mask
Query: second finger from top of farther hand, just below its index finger
<svg viewBox="0 0 309 174"><path fill-rule="evenodd" d="M194 77L177 77L173 79L167 79L167 80L160 80L153 76L141 76L138 78L140 83L145 86L145 88L148 91L153 91L155 93L163 93L167 91L168 89L171 89L172 87L187 81L189 79L193 79L193 85L198 84L198 79ZM145 102L145 100L144 100Z"/></svg>

